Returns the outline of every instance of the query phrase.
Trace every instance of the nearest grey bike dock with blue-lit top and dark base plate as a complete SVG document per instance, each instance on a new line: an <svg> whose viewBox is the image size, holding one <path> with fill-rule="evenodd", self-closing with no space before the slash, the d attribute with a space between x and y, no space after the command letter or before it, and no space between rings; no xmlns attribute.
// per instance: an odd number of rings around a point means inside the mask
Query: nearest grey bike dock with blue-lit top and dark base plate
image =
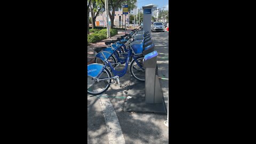
<svg viewBox="0 0 256 144"><path fill-rule="evenodd" d="M137 93L129 93L129 96L132 98L125 101L123 110L167 114L156 68L157 52L153 51L146 54L143 65L146 68L145 83L142 83L145 85L145 89L142 89L143 85L141 83L134 85L133 92Z"/></svg>

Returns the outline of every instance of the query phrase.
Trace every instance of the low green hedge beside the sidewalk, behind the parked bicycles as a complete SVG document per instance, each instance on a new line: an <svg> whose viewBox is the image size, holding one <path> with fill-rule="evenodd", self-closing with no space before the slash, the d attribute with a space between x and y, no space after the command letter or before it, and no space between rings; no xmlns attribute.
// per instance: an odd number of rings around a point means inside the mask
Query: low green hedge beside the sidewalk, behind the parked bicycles
<svg viewBox="0 0 256 144"><path fill-rule="evenodd" d="M110 36L114 36L118 34L117 29L110 29ZM93 34L88 35L87 37L87 45L90 43L97 43L101 41L102 39L107 38L107 29L101 29L101 30L94 30Z"/></svg>

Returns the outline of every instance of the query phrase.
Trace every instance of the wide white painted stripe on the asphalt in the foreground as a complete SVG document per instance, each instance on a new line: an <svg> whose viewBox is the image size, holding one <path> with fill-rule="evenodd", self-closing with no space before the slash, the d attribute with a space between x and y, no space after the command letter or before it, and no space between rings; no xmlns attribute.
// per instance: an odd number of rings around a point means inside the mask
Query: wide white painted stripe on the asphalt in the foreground
<svg viewBox="0 0 256 144"><path fill-rule="evenodd" d="M107 95L107 94L104 94ZM119 124L116 112L108 98L100 98L100 106L107 125L109 144L123 144L124 135Z"/></svg>

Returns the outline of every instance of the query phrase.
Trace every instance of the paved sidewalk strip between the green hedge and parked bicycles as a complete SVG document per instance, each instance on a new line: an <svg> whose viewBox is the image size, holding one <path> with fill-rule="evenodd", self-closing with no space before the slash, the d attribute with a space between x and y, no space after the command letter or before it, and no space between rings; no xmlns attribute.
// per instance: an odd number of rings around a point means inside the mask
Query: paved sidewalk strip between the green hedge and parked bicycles
<svg viewBox="0 0 256 144"><path fill-rule="evenodd" d="M126 30L126 34L131 33L131 31L132 31L131 29L127 29ZM105 42L116 40L118 37L121 37L123 35L125 35L125 30L118 30L118 34L117 35L115 35L115 36L113 36L111 38L103 39L100 42L88 45L87 46L87 62L94 58L93 49L95 47L106 46Z"/></svg>

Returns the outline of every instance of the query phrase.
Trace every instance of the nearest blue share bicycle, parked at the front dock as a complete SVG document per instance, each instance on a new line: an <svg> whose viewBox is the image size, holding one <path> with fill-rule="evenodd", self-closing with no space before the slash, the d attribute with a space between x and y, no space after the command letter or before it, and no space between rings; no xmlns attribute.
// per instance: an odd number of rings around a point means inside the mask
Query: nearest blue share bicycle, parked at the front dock
<svg viewBox="0 0 256 144"><path fill-rule="evenodd" d="M100 63L92 63L90 65L87 65L87 92L92 95L98 95L107 91L109 86L115 81L120 84L119 78L126 74L130 58L133 58L133 62L131 62L130 64L130 71L132 75L140 81L145 81L145 68L143 67L143 57L141 57L140 54L142 53L142 50L142 43L131 43L129 45L125 68L121 71L115 70L112 64L108 61L109 57L113 53L107 51L102 51L98 53L98 58L104 61L104 65ZM110 70L107 67L111 69L114 76L112 76Z"/></svg>

